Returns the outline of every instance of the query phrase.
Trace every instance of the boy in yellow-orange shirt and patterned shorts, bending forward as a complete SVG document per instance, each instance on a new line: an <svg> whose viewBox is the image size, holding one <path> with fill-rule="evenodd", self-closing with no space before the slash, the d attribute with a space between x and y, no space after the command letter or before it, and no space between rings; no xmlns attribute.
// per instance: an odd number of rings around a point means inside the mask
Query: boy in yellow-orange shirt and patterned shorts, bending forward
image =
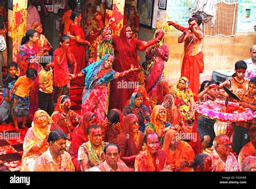
<svg viewBox="0 0 256 189"><path fill-rule="evenodd" d="M37 72L35 69L29 68L26 70L26 75L19 77L11 89L9 98L12 99L12 93L14 93L14 127L18 131L18 117L22 118L22 128L28 129L26 124L26 119L29 115L30 106L30 91L31 86L34 84L34 80L37 77Z"/></svg>

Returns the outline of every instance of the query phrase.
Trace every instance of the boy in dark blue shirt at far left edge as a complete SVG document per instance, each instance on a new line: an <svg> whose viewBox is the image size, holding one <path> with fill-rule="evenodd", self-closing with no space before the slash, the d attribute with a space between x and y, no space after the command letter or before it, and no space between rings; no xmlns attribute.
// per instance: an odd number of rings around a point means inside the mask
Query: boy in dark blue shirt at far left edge
<svg viewBox="0 0 256 189"><path fill-rule="evenodd" d="M17 64L15 62L11 62L8 65L8 71L9 76L6 77L4 81L3 98L0 106L0 123L7 123L8 118L12 119L12 109L14 105L14 100L11 100L11 98L9 98L9 93L12 89L12 86L18 79L18 76L16 76Z"/></svg>

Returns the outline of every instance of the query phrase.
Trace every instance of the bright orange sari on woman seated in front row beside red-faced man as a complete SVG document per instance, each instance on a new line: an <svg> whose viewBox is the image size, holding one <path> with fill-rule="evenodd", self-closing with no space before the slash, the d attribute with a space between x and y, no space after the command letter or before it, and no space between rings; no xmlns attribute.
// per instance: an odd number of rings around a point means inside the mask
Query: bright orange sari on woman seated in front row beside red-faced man
<svg viewBox="0 0 256 189"><path fill-rule="evenodd" d="M165 139L164 139L164 146L163 150L167 154L167 162L168 164L175 164L175 167L180 167L181 162L186 159L190 163L194 160L194 151L192 147L185 141L179 140L179 145L176 147L173 155L171 154L170 151L170 143L171 143L171 138L173 136L176 136L178 132L174 130L169 130L165 134ZM184 167L180 171L192 171L193 168L190 167Z"/></svg>

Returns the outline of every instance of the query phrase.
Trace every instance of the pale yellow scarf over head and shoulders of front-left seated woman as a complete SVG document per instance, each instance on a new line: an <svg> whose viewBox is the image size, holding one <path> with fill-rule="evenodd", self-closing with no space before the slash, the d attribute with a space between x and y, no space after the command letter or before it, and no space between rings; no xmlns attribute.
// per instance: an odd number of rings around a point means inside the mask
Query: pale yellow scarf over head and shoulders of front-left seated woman
<svg viewBox="0 0 256 189"><path fill-rule="evenodd" d="M39 116L40 113L44 113L45 116L48 119L48 125L42 128L38 123L36 118ZM22 159L25 158L26 156L29 156L30 150L32 149L33 145L41 143L46 136L50 134L51 130L51 125L53 124L52 118L49 116L49 114L44 111L44 110L37 110L34 114L33 117L33 122L32 122L32 132L33 134L30 136L25 136L24 144L23 144L23 156ZM29 132L27 132L29 133ZM42 149L39 150L40 153L44 153L45 150L47 150L48 147L43 147Z"/></svg>

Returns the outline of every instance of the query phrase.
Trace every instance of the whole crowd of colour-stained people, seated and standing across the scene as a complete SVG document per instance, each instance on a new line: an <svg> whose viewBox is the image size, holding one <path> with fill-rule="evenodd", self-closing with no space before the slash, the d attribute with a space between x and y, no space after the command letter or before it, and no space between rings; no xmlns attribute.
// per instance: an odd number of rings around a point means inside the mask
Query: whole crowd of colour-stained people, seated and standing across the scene
<svg viewBox="0 0 256 189"><path fill-rule="evenodd" d="M200 86L200 16L193 15L188 28L170 21L183 31L178 43L184 42L181 77L170 86L164 73L169 59L165 33L157 30L153 39L139 40L137 9L131 8L120 35L112 36L111 18L102 28L95 22L85 38L82 14L69 5L63 17L69 15L72 22L63 21L69 30L65 25L53 57L43 25L36 21L22 39L17 63L8 65L0 121L13 119L16 131L20 120L23 129L32 122L21 171L255 170L255 118L235 123L232 138L216 136L215 120L198 115L195 107L227 98L220 91L226 86L240 97L240 106L256 111L256 45L250 49L251 62L235 63L233 78ZM137 50L146 50L142 68ZM84 86L80 114L71 110L70 84Z"/></svg>

